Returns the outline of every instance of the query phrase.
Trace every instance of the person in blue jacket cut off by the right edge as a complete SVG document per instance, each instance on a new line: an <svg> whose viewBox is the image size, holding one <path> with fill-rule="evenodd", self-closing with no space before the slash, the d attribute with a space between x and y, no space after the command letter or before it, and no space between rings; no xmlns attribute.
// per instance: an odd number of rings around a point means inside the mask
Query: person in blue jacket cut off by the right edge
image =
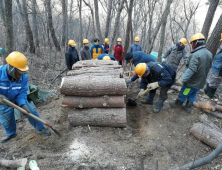
<svg viewBox="0 0 222 170"><path fill-rule="evenodd" d="M219 52L214 57L208 82L206 88L204 88L205 95L203 95L203 98L213 98L220 84L222 84L222 33L220 39Z"/></svg>

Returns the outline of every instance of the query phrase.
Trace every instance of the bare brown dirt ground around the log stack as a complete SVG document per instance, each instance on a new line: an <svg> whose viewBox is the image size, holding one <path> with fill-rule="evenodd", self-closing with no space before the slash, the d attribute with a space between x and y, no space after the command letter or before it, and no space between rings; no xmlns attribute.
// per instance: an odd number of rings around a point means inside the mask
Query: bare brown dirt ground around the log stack
<svg viewBox="0 0 222 170"><path fill-rule="evenodd" d="M146 170L154 170L156 160L159 170L168 170L213 151L189 133L202 112L193 108L188 114L169 106L169 101L176 99L178 92L168 95L158 114L152 112L154 106L142 105L140 100L136 107L127 106L126 128L70 127L67 120L69 109L61 107L60 79L50 84L59 71L48 68L43 58L32 60L30 83L58 95L38 104L37 111L63 134L63 138L53 132L49 137L43 136L25 119L17 122L17 137L1 144L0 157L34 159L41 170L140 170L141 160ZM64 63L58 62L56 68L64 69ZM138 92L139 82L131 83L126 99L136 98ZM158 97L157 93L155 102ZM197 100L200 97L198 95ZM220 126L220 120L209 117ZM3 136L4 130L0 127L0 138ZM217 158L197 169L221 169L221 162ZM0 167L0 170L5 168Z"/></svg>

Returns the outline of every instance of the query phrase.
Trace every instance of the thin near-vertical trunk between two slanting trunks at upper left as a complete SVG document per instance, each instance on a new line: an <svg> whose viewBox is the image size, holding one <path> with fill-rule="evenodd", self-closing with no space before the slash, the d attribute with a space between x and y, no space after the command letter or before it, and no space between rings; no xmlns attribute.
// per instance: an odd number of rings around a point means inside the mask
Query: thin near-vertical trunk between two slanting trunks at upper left
<svg viewBox="0 0 222 170"><path fill-rule="evenodd" d="M33 37L34 37L34 42L35 42L35 47L36 47L36 52L37 55L40 52L39 49L39 35L38 35L38 28L37 28L37 11L36 11L36 0L32 0L32 25L33 25Z"/></svg>

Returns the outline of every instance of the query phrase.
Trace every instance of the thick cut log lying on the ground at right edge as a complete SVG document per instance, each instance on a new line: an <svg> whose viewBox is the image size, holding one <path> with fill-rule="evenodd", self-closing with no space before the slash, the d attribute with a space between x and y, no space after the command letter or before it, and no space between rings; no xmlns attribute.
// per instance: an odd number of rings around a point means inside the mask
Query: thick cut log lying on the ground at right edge
<svg viewBox="0 0 222 170"><path fill-rule="evenodd" d="M190 133L213 148L222 142L222 133L203 123L195 123L190 129Z"/></svg>

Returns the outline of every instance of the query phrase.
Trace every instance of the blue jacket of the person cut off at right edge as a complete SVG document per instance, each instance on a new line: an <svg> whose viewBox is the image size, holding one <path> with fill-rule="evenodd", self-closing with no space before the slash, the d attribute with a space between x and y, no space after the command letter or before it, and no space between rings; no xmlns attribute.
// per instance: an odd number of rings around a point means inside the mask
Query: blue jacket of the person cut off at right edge
<svg viewBox="0 0 222 170"><path fill-rule="evenodd" d="M218 76L222 76L222 49L215 56L211 71Z"/></svg>

